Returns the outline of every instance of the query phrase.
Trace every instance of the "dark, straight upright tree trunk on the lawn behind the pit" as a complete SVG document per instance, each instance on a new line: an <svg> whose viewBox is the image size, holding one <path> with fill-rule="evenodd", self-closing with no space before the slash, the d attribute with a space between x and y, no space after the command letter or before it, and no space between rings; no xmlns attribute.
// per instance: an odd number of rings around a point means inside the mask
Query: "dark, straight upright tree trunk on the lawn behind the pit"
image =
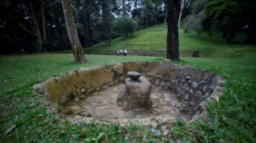
<svg viewBox="0 0 256 143"><path fill-rule="evenodd" d="M168 0L167 59L180 60L178 52L179 0Z"/></svg>

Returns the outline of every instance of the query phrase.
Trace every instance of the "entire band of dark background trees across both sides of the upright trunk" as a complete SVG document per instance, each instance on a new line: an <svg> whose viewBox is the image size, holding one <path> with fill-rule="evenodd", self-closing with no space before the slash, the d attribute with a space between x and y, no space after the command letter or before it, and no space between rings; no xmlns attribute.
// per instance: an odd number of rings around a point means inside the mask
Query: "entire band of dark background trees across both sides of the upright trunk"
<svg viewBox="0 0 256 143"><path fill-rule="evenodd" d="M167 20L167 0L71 2L78 38L85 48L102 41L111 44L112 38L126 37L135 28L141 30ZM196 30L197 34L202 30L210 34L220 31L231 43L237 33L244 33L244 42L255 43L255 6L252 0L185 0L181 19L185 29ZM131 19L136 22L131 31L127 31L128 25L116 26ZM71 49L60 0L2 0L0 30L1 53Z"/></svg>

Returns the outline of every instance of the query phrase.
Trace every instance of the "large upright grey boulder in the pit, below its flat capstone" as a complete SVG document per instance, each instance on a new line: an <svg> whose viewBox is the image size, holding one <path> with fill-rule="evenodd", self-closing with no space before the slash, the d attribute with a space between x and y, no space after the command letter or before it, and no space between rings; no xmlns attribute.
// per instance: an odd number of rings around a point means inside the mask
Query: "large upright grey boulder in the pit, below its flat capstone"
<svg viewBox="0 0 256 143"><path fill-rule="evenodd" d="M138 81L126 79L126 99L132 105L145 107L149 102L151 89L152 85L145 76L140 76Z"/></svg>

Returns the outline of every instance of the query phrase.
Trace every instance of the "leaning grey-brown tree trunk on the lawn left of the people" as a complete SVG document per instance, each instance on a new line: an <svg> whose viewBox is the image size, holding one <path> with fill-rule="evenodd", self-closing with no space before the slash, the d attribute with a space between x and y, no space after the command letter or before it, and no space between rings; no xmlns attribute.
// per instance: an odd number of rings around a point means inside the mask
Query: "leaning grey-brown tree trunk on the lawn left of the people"
<svg viewBox="0 0 256 143"><path fill-rule="evenodd" d="M63 7L64 18L65 18L65 22L66 22L66 26L69 34L70 44L73 49L74 61L88 62L88 59L85 58L84 56L83 48L78 39L78 31L74 23L70 0L62 0L62 7Z"/></svg>

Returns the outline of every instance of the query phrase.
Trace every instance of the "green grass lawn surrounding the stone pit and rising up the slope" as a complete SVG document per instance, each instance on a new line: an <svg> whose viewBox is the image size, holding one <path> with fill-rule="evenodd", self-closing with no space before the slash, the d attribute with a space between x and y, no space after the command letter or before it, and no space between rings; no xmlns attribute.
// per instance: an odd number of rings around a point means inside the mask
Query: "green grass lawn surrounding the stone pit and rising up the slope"
<svg viewBox="0 0 256 143"><path fill-rule="evenodd" d="M130 49L164 49L165 28L166 25L156 25L136 32L129 39L114 39L110 47L102 43L92 48L103 51L127 44ZM31 89L36 83L79 67L117 62L164 62L163 58L86 55L90 62L81 64L73 62L71 53L1 56L0 142L256 142L256 45L229 45L219 37L203 34L197 39L193 32L184 34L180 30L181 61L175 63L214 71L227 82L220 104L207 108L206 121L188 123L179 118L168 125L170 138L155 136L150 127L132 125L122 129L114 123L97 125L94 122L72 125L51 113L45 96ZM239 39L238 36L235 40ZM190 58L194 49L200 50L201 58Z"/></svg>

